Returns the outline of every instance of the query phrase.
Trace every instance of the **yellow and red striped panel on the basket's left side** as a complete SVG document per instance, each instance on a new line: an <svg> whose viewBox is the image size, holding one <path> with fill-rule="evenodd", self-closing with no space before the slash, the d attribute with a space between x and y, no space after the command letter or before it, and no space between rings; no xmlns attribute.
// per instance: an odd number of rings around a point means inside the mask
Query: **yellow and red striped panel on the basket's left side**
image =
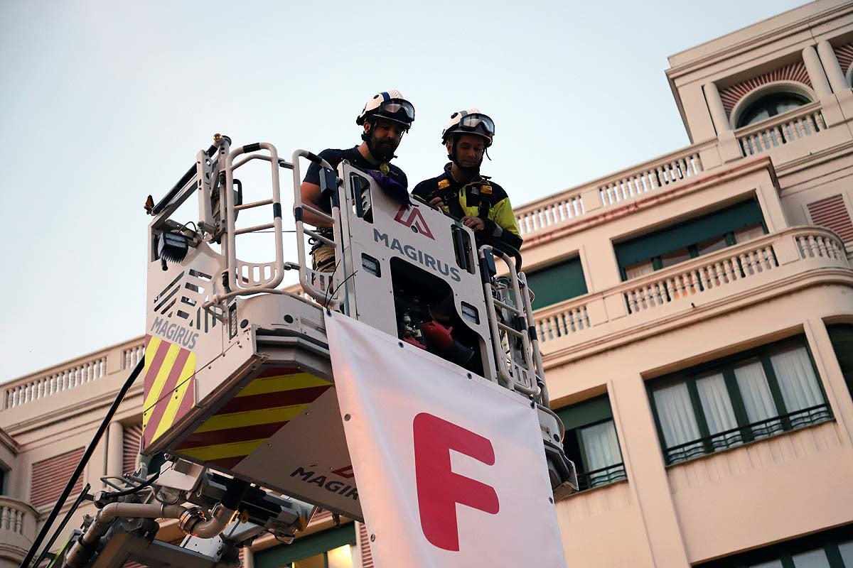
<svg viewBox="0 0 853 568"><path fill-rule="evenodd" d="M142 447L147 448L194 404L187 396L195 381L195 353L145 336L145 402L142 404Z"/></svg>

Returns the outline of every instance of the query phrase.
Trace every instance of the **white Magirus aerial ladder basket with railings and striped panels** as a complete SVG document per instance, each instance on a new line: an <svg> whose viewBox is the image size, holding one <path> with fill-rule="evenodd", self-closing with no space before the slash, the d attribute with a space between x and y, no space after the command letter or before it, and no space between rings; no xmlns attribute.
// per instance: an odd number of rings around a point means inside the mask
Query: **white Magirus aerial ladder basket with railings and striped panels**
<svg viewBox="0 0 853 568"><path fill-rule="evenodd" d="M164 452L362 519L323 323L336 309L450 360L461 377L484 376L538 404L552 485L574 491L512 258L478 249L467 227L401 203L346 162L335 172L310 152L287 162L270 144L229 143L216 138L159 204L149 202L142 454ZM322 167L331 213L301 202L300 157ZM272 195L247 202L235 170L255 159L270 162ZM293 173L296 263L284 260L281 169ZM173 220L193 194L198 218ZM237 227L247 209L270 221ZM333 235L305 227L305 211L328 219ZM241 236L258 232L270 232L276 258L241 261ZM308 239L334 246L334 273L310 268ZM495 256L508 263L500 285ZM281 288L290 269L305 295Z"/></svg>

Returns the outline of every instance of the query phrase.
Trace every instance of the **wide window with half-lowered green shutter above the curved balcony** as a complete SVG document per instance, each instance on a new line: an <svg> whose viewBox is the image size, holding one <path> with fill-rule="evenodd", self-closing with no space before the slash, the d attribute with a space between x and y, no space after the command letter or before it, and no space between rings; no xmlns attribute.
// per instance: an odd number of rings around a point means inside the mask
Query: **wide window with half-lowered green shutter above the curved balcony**
<svg viewBox="0 0 853 568"><path fill-rule="evenodd" d="M638 278L767 233L755 199L613 245L623 280Z"/></svg>

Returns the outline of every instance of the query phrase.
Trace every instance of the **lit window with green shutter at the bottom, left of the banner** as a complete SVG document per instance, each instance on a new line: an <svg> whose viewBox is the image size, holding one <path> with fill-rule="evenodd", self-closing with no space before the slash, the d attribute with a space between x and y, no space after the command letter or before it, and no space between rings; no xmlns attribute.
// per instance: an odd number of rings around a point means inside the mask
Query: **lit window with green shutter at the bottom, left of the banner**
<svg viewBox="0 0 853 568"><path fill-rule="evenodd" d="M355 523L301 536L293 544L255 554L256 568L353 568Z"/></svg>

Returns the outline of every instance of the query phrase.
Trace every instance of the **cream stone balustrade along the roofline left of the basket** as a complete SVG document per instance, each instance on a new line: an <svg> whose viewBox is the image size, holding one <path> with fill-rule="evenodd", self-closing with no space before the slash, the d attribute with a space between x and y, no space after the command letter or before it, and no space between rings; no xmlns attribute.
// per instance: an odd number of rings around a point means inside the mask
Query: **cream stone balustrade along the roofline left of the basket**
<svg viewBox="0 0 853 568"><path fill-rule="evenodd" d="M22 377L3 385L0 410L19 407L65 393L102 380L107 375L130 369L142 359L144 338L90 353L66 364Z"/></svg>

